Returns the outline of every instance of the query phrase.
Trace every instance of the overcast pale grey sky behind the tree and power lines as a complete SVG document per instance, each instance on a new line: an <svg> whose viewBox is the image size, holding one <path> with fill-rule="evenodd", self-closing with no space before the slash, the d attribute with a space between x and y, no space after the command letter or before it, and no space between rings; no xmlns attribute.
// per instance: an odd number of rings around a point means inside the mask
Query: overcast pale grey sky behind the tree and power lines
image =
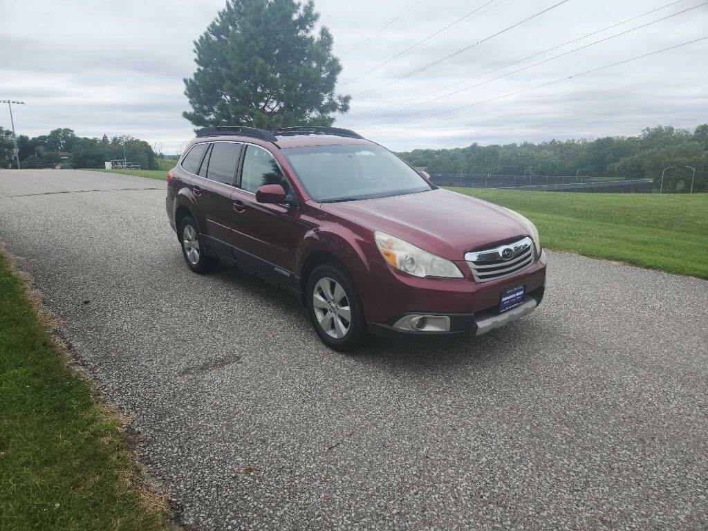
<svg viewBox="0 0 708 531"><path fill-rule="evenodd" d="M320 22L333 33L334 52L343 64L338 93L355 96L348 115L335 125L408 150L636 135L651 125L693 128L708 122L708 40L500 98L708 35L708 5L682 0L576 40L673 0L569 0L474 45L559 1L316 0ZM18 134L70 127L81 136L132 135L176 152L193 136L181 116L188 110L182 79L195 69L192 42L223 4L0 0L0 99L27 103L13 107ZM552 59L694 6L699 7ZM479 11L455 23L475 8ZM570 40L576 42L559 46ZM551 60L523 69L545 59ZM518 63L505 67L513 62ZM523 70L511 73L517 69ZM459 93L447 96L452 91ZM428 102L438 96L443 97ZM396 105L402 101L407 102ZM6 105L0 108L0 125L10 126Z"/></svg>

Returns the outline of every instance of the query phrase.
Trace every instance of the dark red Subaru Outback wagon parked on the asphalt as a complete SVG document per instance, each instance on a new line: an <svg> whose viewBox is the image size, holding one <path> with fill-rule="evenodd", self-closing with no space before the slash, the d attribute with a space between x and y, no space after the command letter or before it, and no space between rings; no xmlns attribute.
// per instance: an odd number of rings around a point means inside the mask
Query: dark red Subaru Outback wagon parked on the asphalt
<svg viewBox="0 0 708 531"><path fill-rule="evenodd" d="M479 335L543 298L546 253L528 219L442 190L349 130L202 129L168 183L192 270L224 261L280 283L336 350L367 331Z"/></svg>

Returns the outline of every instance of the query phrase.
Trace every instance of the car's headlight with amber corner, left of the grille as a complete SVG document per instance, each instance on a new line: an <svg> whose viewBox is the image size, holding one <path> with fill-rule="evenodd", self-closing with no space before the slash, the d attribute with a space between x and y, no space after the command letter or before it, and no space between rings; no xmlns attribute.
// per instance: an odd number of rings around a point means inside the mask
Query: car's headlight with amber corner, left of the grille
<svg viewBox="0 0 708 531"><path fill-rule="evenodd" d="M416 277L464 277L450 260L418 249L407 241L378 231L374 232L374 238L386 261L404 273Z"/></svg>

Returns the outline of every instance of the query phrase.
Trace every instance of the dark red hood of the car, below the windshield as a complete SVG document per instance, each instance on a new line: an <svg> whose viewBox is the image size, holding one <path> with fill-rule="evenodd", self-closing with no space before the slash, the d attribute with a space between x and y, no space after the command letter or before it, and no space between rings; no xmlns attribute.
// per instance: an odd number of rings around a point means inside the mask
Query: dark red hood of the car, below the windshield
<svg viewBox="0 0 708 531"><path fill-rule="evenodd" d="M321 204L323 210L378 230L450 260L527 236L520 217L506 208L450 190Z"/></svg>

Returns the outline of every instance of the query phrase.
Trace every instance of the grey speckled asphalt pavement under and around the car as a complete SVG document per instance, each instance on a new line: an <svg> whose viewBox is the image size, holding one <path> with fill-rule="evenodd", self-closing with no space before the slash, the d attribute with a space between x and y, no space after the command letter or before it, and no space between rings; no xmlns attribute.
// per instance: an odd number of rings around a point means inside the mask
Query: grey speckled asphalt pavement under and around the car
<svg viewBox="0 0 708 531"><path fill-rule="evenodd" d="M708 527L708 282L549 253L515 324L342 355L287 292L191 273L165 188L0 170L0 239L187 527Z"/></svg>

